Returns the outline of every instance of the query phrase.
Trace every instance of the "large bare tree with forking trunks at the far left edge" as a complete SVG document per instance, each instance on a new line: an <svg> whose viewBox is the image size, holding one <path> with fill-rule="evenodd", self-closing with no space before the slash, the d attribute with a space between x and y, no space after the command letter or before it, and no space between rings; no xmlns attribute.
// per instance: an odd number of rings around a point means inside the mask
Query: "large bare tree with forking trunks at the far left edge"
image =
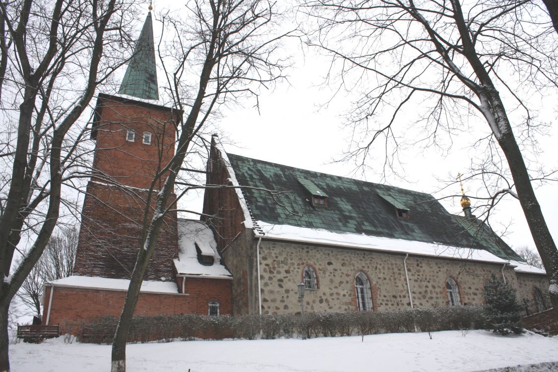
<svg viewBox="0 0 558 372"><path fill-rule="evenodd" d="M133 0L0 3L0 370L9 370L11 299L81 177L89 103L123 63ZM124 48L126 49L126 48ZM13 259L22 260L12 268Z"/></svg>

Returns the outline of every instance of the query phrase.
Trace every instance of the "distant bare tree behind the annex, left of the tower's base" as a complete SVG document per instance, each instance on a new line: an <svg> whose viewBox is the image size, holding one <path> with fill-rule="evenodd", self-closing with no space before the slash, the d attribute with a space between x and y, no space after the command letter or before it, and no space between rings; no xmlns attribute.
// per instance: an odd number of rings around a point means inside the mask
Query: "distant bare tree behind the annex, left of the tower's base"
<svg viewBox="0 0 558 372"><path fill-rule="evenodd" d="M62 228L50 237L41 258L21 285L16 297L26 307L41 317L41 298L45 282L71 276L74 270L76 249L78 248L78 229ZM20 260L17 260L19 264Z"/></svg>

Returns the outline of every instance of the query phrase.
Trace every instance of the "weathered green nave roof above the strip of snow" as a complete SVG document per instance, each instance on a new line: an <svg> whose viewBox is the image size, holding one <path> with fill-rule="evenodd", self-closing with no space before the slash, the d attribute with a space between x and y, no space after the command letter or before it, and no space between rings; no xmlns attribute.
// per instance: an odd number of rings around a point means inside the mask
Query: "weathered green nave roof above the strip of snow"
<svg viewBox="0 0 558 372"><path fill-rule="evenodd" d="M429 194L379 183L306 171L228 154L248 207L256 220L326 229L342 233L417 240L464 248L483 248L504 259L517 255L485 225L470 228ZM328 195L328 206L316 208L301 180ZM251 188L254 187L254 188ZM255 189L258 188L258 189ZM264 189L264 190L261 190ZM270 194L266 190L281 191ZM410 219L397 210L410 210Z"/></svg>

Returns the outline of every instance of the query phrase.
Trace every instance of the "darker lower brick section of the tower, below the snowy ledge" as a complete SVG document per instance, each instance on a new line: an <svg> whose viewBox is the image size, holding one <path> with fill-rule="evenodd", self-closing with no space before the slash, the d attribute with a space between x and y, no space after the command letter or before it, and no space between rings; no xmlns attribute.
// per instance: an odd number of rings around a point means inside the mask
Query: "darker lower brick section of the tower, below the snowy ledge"
<svg viewBox="0 0 558 372"><path fill-rule="evenodd" d="M76 275L129 278L141 248L145 192L90 181L85 195ZM176 199L173 194L172 201ZM172 259L178 253L176 212L169 213L161 228L146 280L174 280Z"/></svg>

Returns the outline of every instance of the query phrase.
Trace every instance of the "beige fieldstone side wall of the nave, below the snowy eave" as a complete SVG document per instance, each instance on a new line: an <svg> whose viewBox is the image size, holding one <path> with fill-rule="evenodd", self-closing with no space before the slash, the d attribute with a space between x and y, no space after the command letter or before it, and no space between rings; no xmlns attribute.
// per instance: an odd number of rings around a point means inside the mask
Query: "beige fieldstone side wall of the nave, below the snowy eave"
<svg viewBox="0 0 558 372"><path fill-rule="evenodd" d="M357 310L354 278L359 270L371 282L374 310L407 308L404 258L403 254L264 240L260 247L263 313L300 312L296 286L306 265L315 268L319 280L318 289L306 291L307 311ZM501 269L499 264L410 256L407 271L413 306L448 305L448 277L458 284L464 305L480 305L484 281L492 273L500 276ZM513 269L504 273L508 283L517 288Z"/></svg>

